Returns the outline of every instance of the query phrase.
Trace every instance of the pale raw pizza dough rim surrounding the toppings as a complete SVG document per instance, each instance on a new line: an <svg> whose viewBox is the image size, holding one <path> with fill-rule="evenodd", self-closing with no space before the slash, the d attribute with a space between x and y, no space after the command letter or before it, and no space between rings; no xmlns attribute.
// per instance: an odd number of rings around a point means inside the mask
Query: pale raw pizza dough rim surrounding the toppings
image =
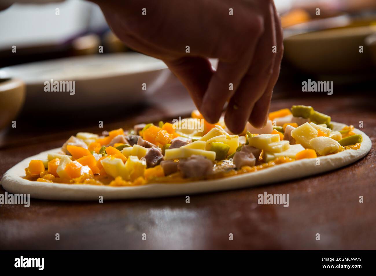
<svg viewBox="0 0 376 276"><path fill-rule="evenodd" d="M334 130L341 130L345 126L335 122L332 122L332 124L334 125ZM227 178L176 184L147 184L133 187L58 184L30 181L22 178L25 176L25 168L29 166L30 160L46 159L48 152L59 152L60 148L57 148L41 152L21 161L3 175L1 184L8 192L30 194L31 198L74 201L98 200L99 196L103 196L104 200L156 198L239 189L315 175L351 164L364 157L371 149L370 138L358 129L355 129L354 132L363 136L363 142L359 149L347 149L337 154L319 157L319 166L315 164L315 158L302 159Z"/></svg>

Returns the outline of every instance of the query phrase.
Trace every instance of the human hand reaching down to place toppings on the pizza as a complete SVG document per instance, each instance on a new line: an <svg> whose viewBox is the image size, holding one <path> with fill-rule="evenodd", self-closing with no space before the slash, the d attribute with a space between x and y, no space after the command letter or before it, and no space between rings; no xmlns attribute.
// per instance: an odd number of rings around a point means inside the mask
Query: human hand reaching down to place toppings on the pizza
<svg viewBox="0 0 376 276"><path fill-rule="evenodd" d="M167 64L208 122L217 122L229 101L225 123L230 131L241 133L247 121L264 125L283 53L273 1L94 2L121 41ZM208 57L218 59L217 71Z"/></svg>

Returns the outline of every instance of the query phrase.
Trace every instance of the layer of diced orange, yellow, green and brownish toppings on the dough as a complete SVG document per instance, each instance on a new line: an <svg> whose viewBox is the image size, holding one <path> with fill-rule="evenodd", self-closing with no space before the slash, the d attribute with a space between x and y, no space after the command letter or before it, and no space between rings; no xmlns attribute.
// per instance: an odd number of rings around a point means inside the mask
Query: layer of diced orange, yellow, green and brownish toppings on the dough
<svg viewBox="0 0 376 276"><path fill-rule="evenodd" d="M202 119L196 110L186 119L197 123L193 129L186 129L183 121L161 121L158 126L139 124L128 131L104 131L102 136L79 132L64 143L61 153L30 161L25 178L109 186L189 182L355 150L362 143L352 125L332 130L331 118L310 106L271 112L265 127L256 129L247 123L241 136L226 131L223 117L217 124L204 120L200 128Z"/></svg>

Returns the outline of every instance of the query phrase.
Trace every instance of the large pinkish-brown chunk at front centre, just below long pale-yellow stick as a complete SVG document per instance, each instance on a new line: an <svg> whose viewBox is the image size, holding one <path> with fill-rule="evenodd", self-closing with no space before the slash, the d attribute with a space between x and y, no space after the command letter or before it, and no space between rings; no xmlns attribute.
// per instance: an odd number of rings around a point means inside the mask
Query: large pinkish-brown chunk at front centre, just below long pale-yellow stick
<svg viewBox="0 0 376 276"><path fill-rule="evenodd" d="M213 163L202 155L180 159L177 165L184 177L202 177L213 172Z"/></svg>

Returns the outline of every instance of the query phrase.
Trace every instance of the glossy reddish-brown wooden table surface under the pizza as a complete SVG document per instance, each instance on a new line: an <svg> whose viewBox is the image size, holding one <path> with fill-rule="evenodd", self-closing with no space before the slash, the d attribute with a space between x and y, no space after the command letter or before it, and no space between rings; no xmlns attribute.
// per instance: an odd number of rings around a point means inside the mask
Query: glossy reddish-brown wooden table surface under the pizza
<svg viewBox="0 0 376 276"><path fill-rule="evenodd" d="M190 195L190 203L176 196L0 205L0 249L376 249L376 96L364 91L304 94L285 86L274 93L270 109L305 104L333 121L356 127L363 121L373 148L355 164L273 185ZM100 115L86 109L61 119L23 114L17 128L2 134L0 175L30 155L61 146L77 131L100 133L99 120L110 130L176 118L193 108L185 89L171 81L144 106L105 107ZM265 191L288 193L290 206L258 205L258 194Z"/></svg>

